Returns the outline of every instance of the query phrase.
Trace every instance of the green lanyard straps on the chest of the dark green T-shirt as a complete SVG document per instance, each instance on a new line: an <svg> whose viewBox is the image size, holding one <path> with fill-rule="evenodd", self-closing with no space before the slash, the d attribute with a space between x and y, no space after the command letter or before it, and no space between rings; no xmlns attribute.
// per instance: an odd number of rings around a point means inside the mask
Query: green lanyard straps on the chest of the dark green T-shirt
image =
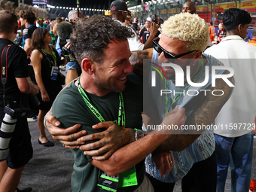
<svg viewBox="0 0 256 192"><path fill-rule="evenodd" d="M105 119L102 117L102 114L100 114L99 110L94 107L90 99L88 98L87 94L84 92L83 87L81 87L81 76L78 80L78 91L81 94L81 96L84 99L84 102L86 103L87 107L90 109L90 111L93 112L93 114L99 119L100 122L104 122ZM119 93L119 108L118 108L118 119L117 119L117 124L119 126L125 127L125 111L124 111L124 104L123 104L123 93Z"/></svg>

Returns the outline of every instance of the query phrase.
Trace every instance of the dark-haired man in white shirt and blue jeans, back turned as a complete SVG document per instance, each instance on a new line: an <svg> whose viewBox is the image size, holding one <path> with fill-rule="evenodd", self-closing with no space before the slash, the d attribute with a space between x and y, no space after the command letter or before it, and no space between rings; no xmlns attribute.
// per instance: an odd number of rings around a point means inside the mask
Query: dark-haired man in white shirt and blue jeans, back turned
<svg viewBox="0 0 256 192"><path fill-rule="evenodd" d="M230 8L224 12L227 36L221 43L205 51L234 70L236 88L215 119L217 157L217 191L224 191L230 165L232 191L248 191L251 178L253 132L255 118L256 47L243 39L248 33L251 16L247 11ZM239 126L240 125L240 126ZM246 126L241 126L246 125ZM247 126L248 125L248 126Z"/></svg>

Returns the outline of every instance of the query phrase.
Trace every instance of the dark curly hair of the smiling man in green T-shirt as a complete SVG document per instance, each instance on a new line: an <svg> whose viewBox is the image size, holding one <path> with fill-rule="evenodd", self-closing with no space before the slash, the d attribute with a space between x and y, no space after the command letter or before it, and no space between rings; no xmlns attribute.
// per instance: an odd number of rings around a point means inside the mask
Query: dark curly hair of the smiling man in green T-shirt
<svg viewBox="0 0 256 192"><path fill-rule="evenodd" d="M81 19L70 37L72 51L81 64L84 58L102 62L104 49L112 39L126 41L134 36L133 29L102 15Z"/></svg>

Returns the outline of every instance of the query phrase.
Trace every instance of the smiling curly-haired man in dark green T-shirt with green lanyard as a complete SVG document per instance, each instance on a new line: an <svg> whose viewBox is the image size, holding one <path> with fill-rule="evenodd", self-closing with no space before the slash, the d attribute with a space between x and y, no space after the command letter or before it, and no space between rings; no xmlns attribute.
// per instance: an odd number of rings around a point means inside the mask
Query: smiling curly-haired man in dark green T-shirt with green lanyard
<svg viewBox="0 0 256 192"><path fill-rule="evenodd" d="M129 61L127 38L133 36L133 29L102 15L81 20L80 24L70 41L81 65L81 78L59 93L53 103L53 114L65 128L77 122L87 133L102 133L104 129L93 128L115 126L133 140L120 142L117 148L131 143L105 161L95 160L78 148L72 150L75 157L72 190L115 191L118 187L117 191L154 191L145 177L144 159L168 135L149 134L140 139L141 132L134 130L142 126L143 89L142 78L132 73ZM179 111L176 108L167 117L163 123L181 126L185 120L184 108ZM118 138L118 133L114 137Z"/></svg>

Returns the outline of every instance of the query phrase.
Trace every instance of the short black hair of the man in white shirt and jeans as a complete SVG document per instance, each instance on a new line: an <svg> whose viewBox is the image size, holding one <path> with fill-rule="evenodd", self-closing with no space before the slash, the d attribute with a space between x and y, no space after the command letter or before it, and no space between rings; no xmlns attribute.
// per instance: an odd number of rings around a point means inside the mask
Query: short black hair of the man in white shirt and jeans
<svg viewBox="0 0 256 192"><path fill-rule="evenodd" d="M236 29L239 24L244 26L245 24L249 23L251 23L251 16L247 11L238 8L230 8L224 12L223 24L227 31Z"/></svg>

